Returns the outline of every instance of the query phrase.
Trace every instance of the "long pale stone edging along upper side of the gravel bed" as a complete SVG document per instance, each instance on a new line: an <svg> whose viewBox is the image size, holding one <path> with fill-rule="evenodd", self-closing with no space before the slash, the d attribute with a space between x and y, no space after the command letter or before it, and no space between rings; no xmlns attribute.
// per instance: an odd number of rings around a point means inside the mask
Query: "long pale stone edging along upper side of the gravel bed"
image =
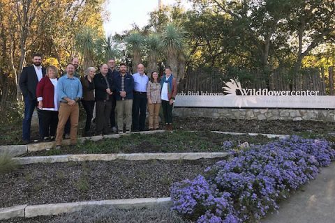
<svg viewBox="0 0 335 223"><path fill-rule="evenodd" d="M228 153L112 153L112 154L68 154L14 158L20 164L84 162L111 160L198 160L226 157Z"/></svg>

